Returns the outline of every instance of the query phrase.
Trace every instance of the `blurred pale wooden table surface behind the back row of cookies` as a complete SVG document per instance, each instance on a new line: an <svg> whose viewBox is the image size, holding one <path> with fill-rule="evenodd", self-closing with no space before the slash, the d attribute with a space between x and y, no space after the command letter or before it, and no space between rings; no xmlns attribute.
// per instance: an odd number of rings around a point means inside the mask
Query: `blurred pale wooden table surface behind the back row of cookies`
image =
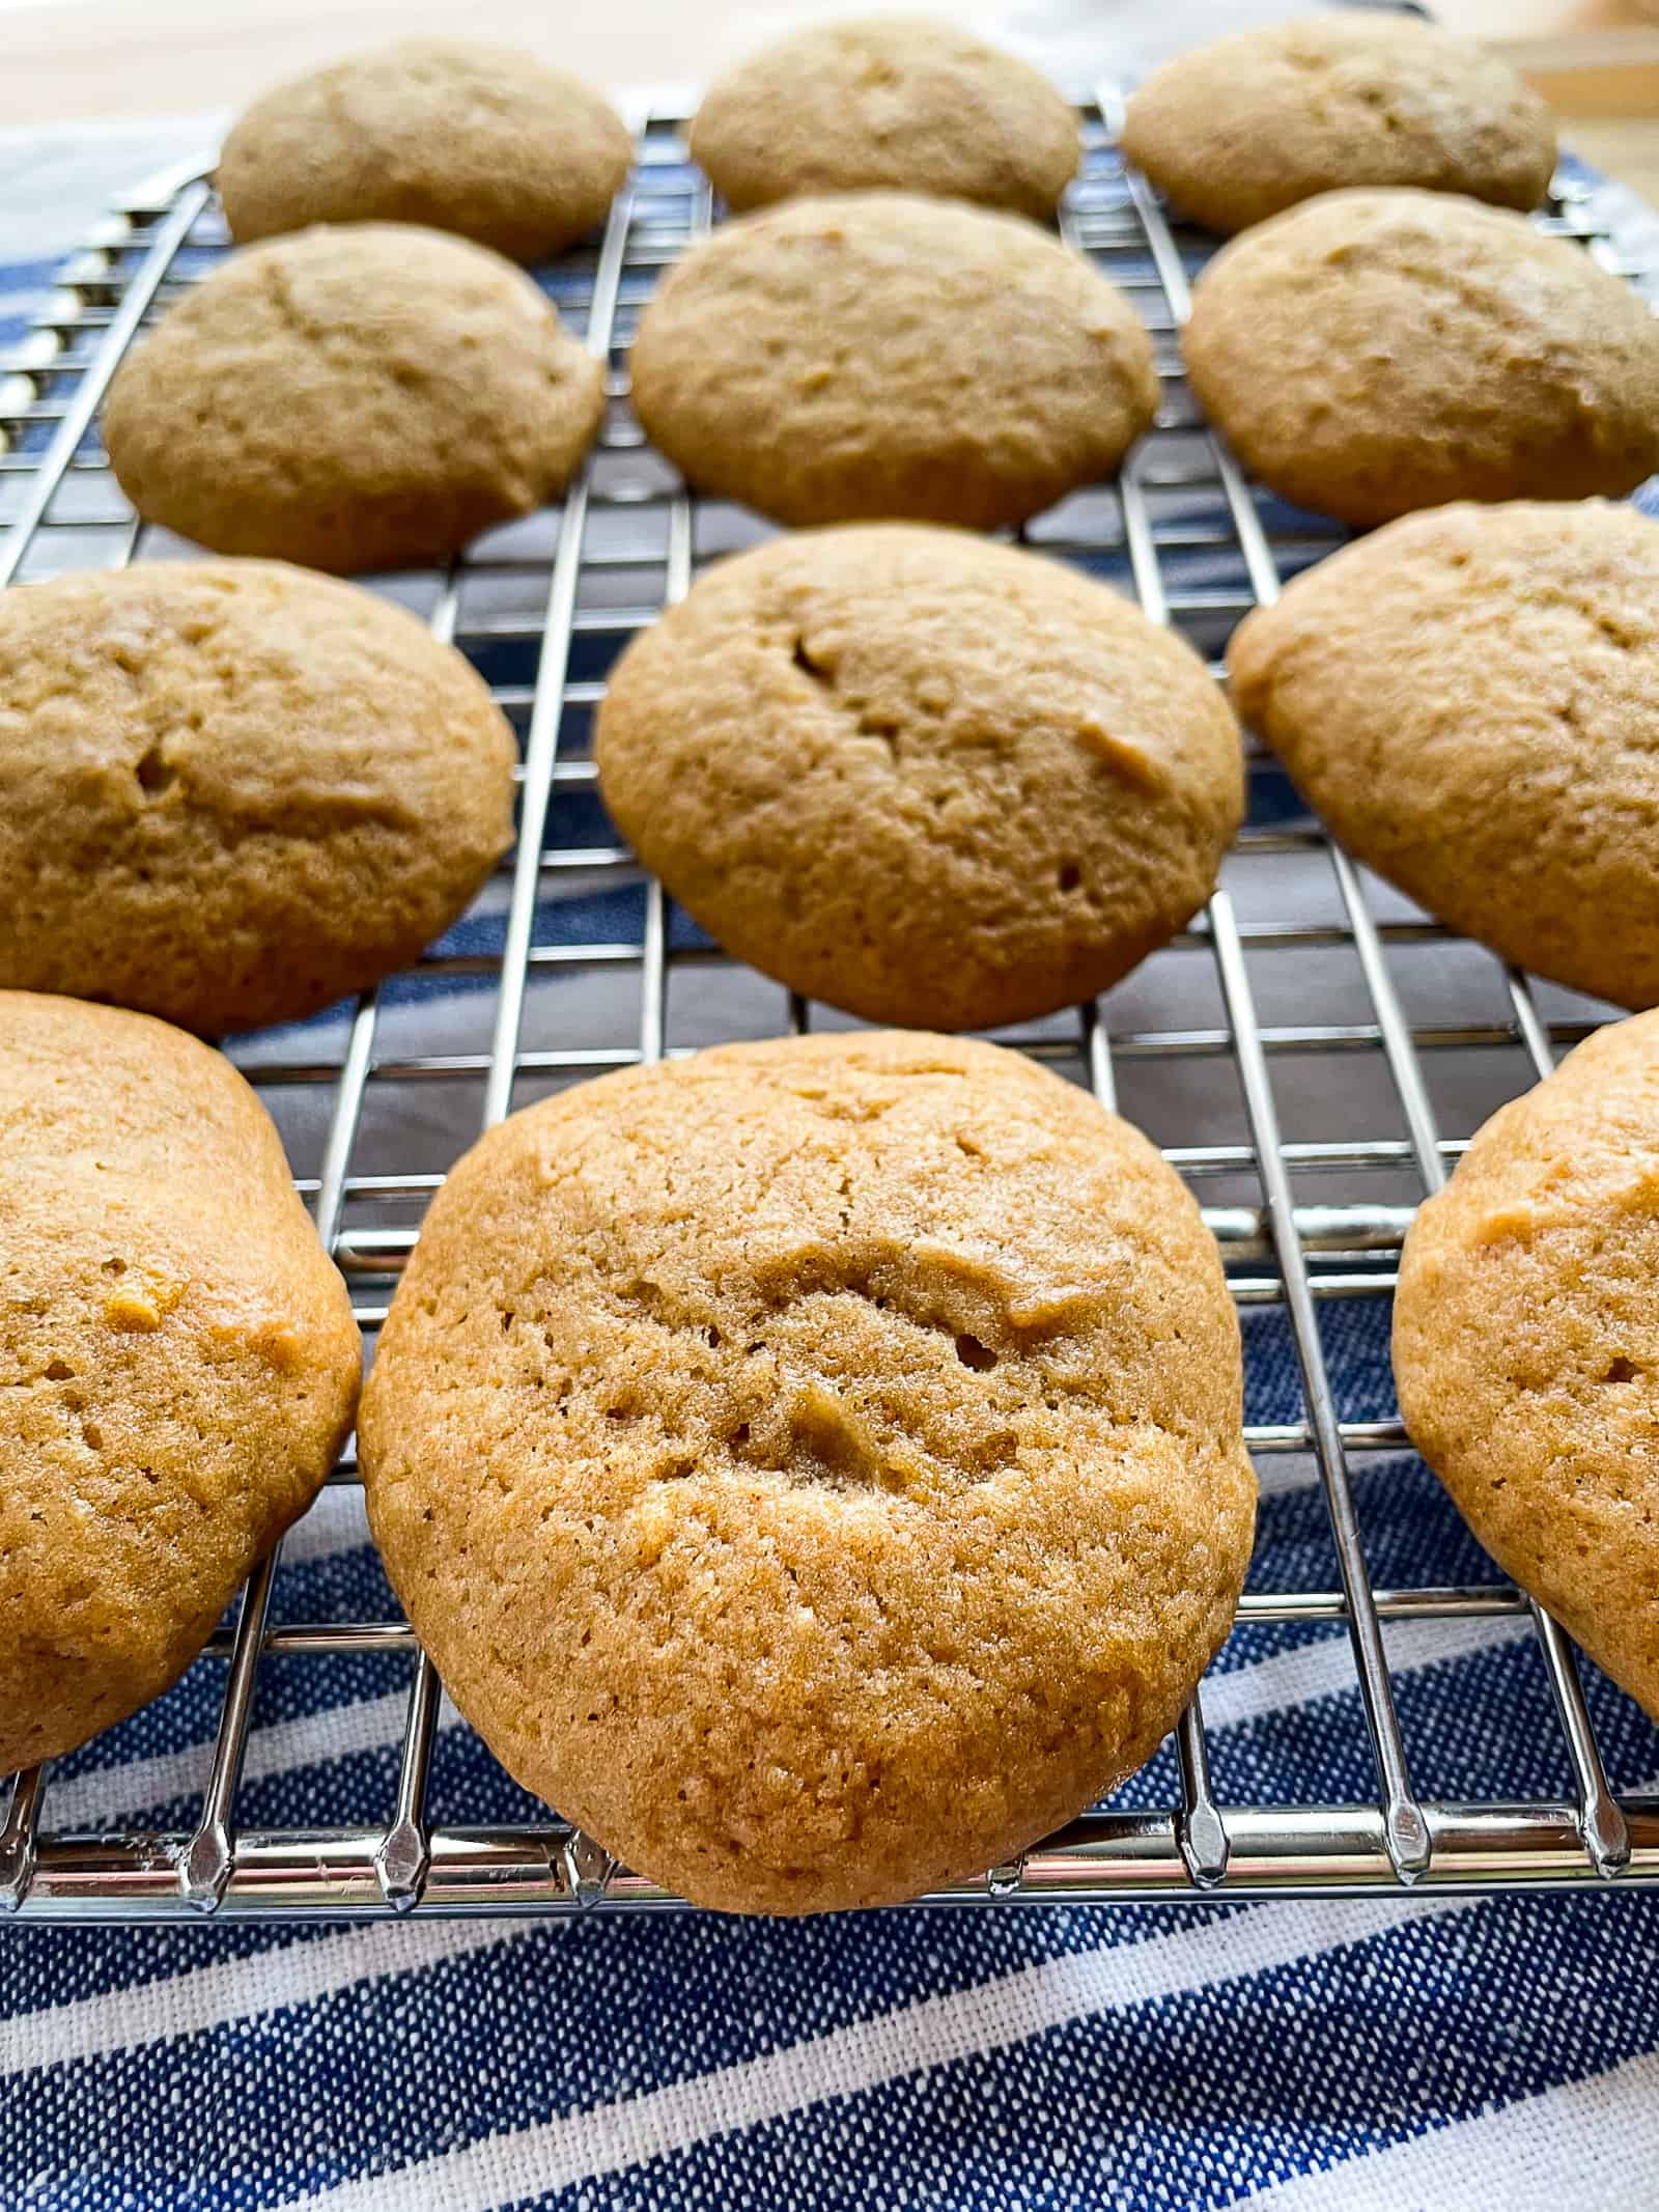
<svg viewBox="0 0 1659 2212"><path fill-rule="evenodd" d="M907 0L927 7L929 0ZM1026 49L1097 66L1192 44L1272 0L1071 0L940 13ZM575 0L526 20L509 0L0 0L0 126L93 124L237 106L314 62L407 31L533 46L599 84L695 86L799 20L872 13L880 0ZM1564 135L1659 201L1659 0L1440 0L1453 29L1511 53L1562 115Z"/></svg>

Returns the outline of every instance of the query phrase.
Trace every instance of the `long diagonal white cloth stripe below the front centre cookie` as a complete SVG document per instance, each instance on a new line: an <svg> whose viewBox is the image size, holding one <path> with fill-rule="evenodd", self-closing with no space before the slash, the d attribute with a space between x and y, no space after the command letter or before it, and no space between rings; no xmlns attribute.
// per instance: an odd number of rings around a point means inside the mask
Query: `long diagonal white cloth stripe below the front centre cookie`
<svg viewBox="0 0 1659 2212"><path fill-rule="evenodd" d="M1022 2044L1071 2020L1121 2013L1155 1997L1363 1942L1405 1920L1453 1911L1480 1911L1480 1902L1334 1900L1250 1911L1150 1942L1044 1960L975 1989L920 1997L876 2020L832 2028L741 2066L721 2066L670 2088L345 2181L303 2199L303 2205L305 2212L409 2212L409 2205L422 2212L487 2212L688 2150L710 2135L807 2110L827 2097L856 2097L905 2075ZM299 2203L283 2212L299 2212Z"/></svg>

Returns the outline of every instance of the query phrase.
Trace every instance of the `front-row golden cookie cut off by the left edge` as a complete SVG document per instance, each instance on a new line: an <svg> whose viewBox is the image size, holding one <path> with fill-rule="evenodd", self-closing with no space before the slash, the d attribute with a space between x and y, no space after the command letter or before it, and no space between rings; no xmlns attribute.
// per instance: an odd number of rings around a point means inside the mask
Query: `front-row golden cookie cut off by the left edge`
<svg viewBox="0 0 1659 2212"><path fill-rule="evenodd" d="M164 1022L0 991L0 1774L190 1666L352 1427L276 1130Z"/></svg>

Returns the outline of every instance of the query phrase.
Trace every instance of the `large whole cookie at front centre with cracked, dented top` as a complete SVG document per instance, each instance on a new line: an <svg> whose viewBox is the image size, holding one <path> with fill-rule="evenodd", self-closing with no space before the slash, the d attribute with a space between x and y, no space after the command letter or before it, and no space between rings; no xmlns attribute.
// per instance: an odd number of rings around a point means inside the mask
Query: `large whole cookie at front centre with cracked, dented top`
<svg viewBox="0 0 1659 2212"><path fill-rule="evenodd" d="M699 1905L883 1905L1150 1756L1250 1559L1239 1327L1159 1155L989 1044L513 1115L363 1400L376 1542L524 1787Z"/></svg>

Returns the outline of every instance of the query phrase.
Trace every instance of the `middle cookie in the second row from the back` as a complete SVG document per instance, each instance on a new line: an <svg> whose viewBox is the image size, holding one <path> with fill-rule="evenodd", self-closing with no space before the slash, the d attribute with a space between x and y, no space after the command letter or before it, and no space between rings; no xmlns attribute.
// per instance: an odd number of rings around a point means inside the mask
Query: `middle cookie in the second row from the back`
<svg viewBox="0 0 1659 2212"><path fill-rule="evenodd" d="M1152 343L1035 226L905 192L721 226L639 319L633 398L701 489L776 522L998 529L1152 420Z"/></svg>

